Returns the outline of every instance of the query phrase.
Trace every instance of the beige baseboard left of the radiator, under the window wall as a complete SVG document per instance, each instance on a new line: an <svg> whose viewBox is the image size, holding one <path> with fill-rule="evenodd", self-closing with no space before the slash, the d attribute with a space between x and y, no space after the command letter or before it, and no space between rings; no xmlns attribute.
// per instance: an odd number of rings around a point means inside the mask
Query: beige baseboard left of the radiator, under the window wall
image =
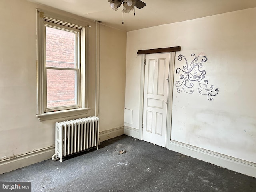
<svg viewBox="0 0 256 192"><path fill-rule="evenodd" d="M0 160L0 174L52 158L55 146Z"/></svg>

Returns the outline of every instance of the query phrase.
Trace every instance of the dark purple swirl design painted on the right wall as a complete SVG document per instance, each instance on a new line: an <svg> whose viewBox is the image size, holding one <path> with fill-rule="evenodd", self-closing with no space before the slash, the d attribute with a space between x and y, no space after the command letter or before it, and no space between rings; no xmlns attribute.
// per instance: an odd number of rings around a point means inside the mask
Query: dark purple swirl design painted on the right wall
<svg viewBox="0 0 256 192"><path fill-rule="evenodd" d="M201 95L207 95L209 101L213 100L213 97L216 96L219 92L219 89L214 89L213 85L208 86L208 80L204 79L206 75L206 71L202 70L203 63L207 61L206 56L197 56L192 53L191 54L194 59L188 66L188 60L185 56L179 55L178 60L181 61L183 58L186 62L186 65L183 68L177 68L176 74L180 74L180 80L176 81L175 86L177 87L177 92L180 93L182 91L192 94L194 92L193 87L195 83L198 83L198 93Z"/></svg>

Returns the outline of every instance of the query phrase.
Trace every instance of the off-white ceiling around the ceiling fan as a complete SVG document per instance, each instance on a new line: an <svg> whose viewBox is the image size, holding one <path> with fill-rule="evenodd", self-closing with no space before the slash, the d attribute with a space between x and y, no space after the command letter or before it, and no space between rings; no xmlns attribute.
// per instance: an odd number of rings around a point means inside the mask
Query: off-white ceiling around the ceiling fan
<svg viewBox="0 0 256 192"><path fill-rule="evenodd" d="M191 20L256 7L256 0L142 0L142 9L124 14L111 9L108 0L29 0L70 12L125 31Z"/></svg>

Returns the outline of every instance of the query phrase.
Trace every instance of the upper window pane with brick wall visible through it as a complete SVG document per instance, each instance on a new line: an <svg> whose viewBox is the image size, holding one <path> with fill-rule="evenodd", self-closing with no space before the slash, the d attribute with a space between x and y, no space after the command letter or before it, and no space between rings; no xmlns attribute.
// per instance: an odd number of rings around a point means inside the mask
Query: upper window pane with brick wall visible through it
<svg viewBox="0 0 256 192"><path fill-rule="evenodd" d="M76 68L76 34L46 26L46 66Z"/></svg>

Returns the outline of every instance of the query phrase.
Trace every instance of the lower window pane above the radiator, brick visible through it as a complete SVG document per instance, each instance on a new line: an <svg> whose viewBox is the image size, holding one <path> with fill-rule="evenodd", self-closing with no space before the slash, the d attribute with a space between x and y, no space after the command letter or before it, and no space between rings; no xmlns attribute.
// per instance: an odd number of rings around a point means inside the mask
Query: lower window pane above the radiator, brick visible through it
<svg viewBox="0 0 256 192"><path fill-rule="evenodd" d="M76 71L47 69L47 108L77 104Z"/></svg>

